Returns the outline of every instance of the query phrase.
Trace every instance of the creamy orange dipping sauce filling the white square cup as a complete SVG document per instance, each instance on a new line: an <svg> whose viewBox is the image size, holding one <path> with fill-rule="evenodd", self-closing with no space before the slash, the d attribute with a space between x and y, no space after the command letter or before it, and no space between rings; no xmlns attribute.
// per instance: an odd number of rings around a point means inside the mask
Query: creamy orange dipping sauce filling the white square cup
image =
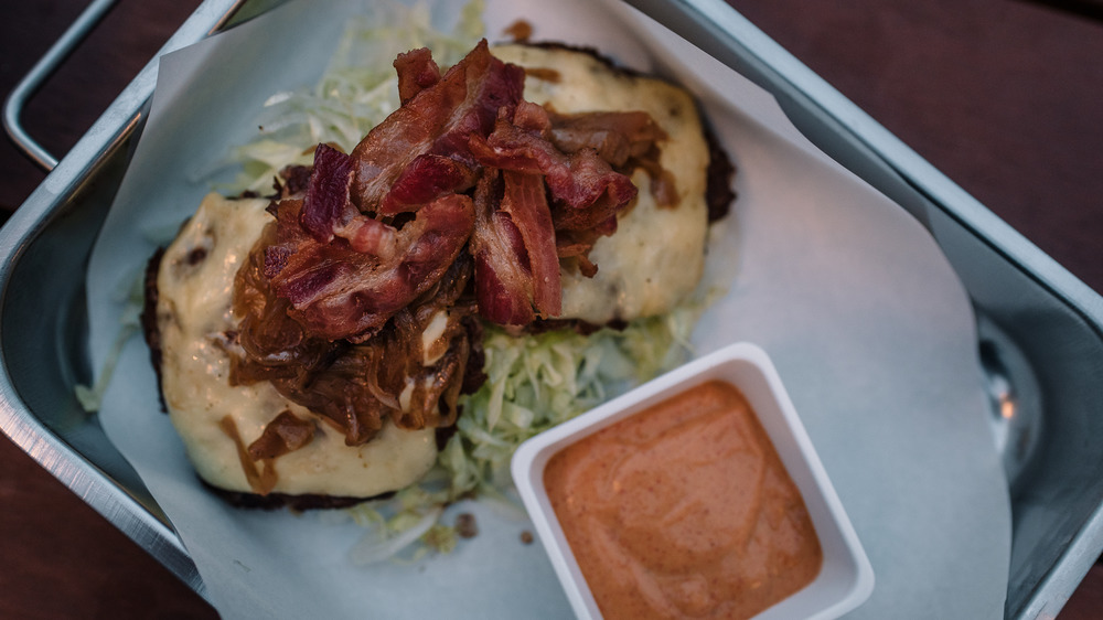
<svg viewBox="0 0 1103 620"><path fill-rule="evenodd" d="M607 619L750 618L823 564L800 492L725 382L568 446L544 482Z"/></svg>

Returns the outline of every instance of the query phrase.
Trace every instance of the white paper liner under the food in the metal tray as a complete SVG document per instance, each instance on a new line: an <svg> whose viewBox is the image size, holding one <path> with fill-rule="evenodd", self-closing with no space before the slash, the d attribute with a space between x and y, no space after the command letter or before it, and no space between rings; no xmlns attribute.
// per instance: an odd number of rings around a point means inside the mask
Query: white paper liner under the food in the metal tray
<svg viewBox="0 0 1103 620"><path fill-rule="evenodd" d="M292 2L162 58L153 109L88 271L100 367L113 291L182 221L270 94L311 85L349 14L372 3ZM675 76L700 98L739 168L710 248L730 291L698 353L746 340L773 359L876 573L854 618L999 618L1010 511L982 392L973 314L938 246L907 213L805 141L771 96L620 2L488 0L488 33L526 17L535 38L588 44ZM140 339L100 416L180 533L225 618L521 618L570 611L526 520L467 503L480 534L449 556L354 567L362 534L315 515L249 512L204 490L167 416ZM446 516L446 519L448 519Z"/></svg>

